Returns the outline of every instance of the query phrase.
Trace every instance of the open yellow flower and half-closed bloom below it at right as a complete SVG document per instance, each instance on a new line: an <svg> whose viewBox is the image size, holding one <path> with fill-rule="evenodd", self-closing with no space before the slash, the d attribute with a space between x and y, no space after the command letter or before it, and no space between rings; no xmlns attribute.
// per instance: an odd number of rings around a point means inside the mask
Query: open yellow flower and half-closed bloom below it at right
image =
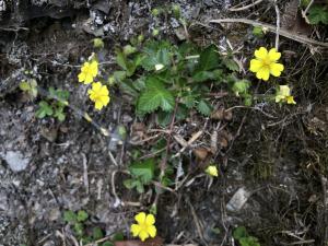
<svg viewBox="0 0 328 246"><path fill-rule="evenodd" d="M256 73L256 78L259 80L268 81L270 75L280 77L284 70L284 66L278 63L281 57L281 52L278 52L276 48L271 48L269 51L265 47L256 49L255 59L250 60L249 70ZM289 85L280 85L276 95L276 103L296 104L294 97L291 95Z"/></svg>

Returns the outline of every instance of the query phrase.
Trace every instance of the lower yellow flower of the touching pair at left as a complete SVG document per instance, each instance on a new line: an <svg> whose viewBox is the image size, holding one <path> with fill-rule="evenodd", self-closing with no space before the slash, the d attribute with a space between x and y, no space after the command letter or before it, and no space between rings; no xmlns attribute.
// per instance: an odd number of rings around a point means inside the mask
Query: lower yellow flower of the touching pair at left
<svg viewBox="0 0 328 246"><path fill-rule="evenodd" d="M109 92L106 85L102 85L101 82L92 83L92 89L87 90L87 94L91 101L95 103L95 108L101 110L109 103Z"/></svg>

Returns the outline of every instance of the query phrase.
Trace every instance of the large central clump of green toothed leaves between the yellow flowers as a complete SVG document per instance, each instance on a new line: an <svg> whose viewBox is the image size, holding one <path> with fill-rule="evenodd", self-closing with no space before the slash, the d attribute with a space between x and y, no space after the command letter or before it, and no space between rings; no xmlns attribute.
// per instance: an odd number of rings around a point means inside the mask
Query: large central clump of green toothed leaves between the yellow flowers
<svg viewBox="0 0 328 246"><path fill-rule="evenodd" d="M248 99L249 82L237 79L238 66L220 56L215 46L199 49L192 44L180 46L163 40L147 42L139 49L130 45L116 50L121 70L110 81L132 96L138 116L157 113L157 122L167 125L176 107L178 119L190 109L210 116L208 94L212 85L226 84L235 94Z"/></svg>

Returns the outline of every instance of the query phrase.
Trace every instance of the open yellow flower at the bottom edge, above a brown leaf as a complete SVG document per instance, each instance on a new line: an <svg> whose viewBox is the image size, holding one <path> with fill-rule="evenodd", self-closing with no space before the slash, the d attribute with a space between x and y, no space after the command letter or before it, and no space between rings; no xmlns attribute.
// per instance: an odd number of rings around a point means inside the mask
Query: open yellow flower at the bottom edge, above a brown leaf
<svg viewBox="0 0 328 246"><path fill-rule="evenodd" d="M131 233L133 236L139 236L142 242L149 236L156 236L156 227L154 225L155 218L153 214L145 214L144 212L141 212L134 216L134 220L138 224L131 225Z"/></svg>

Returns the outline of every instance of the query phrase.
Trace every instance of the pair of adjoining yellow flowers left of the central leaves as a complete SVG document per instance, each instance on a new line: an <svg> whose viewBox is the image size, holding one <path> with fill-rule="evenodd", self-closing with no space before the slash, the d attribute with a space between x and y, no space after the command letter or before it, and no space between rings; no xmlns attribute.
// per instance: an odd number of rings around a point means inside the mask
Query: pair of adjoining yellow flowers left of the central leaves
<svg viewBox="0 0 328 246"><path fill-rule="evenodd" d="M79 82L84 84L91 84L91 89L87 91L89 97L95 104L95 108L101 110L110 101L109 91L106 85L101 82L94 82L94 79L98 74L97 60L86 61L81 68L81 72L78 75Z"/></svg>

